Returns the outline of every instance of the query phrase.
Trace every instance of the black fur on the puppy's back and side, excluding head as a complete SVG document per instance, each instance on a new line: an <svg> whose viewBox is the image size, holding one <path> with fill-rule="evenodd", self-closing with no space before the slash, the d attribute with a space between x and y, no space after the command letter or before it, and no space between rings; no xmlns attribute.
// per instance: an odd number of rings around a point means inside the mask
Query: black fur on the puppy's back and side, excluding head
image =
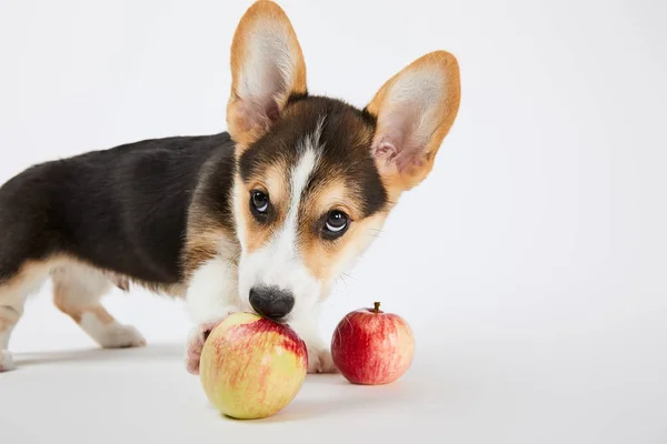
<svg viewBox="0 0 667 444"><path fill-rule="evenodd" d="M0 188L0 282L54 253L145 282L179 282L187 209L211 157L232 170L228 133L146 140L27 169ZM223 192L231 174L219 178Z"/></svg>

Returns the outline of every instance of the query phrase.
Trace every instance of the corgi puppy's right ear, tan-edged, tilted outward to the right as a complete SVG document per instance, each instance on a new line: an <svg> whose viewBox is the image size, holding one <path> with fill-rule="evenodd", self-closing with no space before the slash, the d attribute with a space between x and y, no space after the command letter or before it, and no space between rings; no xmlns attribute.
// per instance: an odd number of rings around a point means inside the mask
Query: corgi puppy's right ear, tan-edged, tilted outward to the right
<svg viewBox="0 0 667 444"><path fill-rule="evenodd" d="M407 191L428 175L459 101L458 62L435 51L389 79L366 107L377 117L372 155L390 192Z"/></svg>

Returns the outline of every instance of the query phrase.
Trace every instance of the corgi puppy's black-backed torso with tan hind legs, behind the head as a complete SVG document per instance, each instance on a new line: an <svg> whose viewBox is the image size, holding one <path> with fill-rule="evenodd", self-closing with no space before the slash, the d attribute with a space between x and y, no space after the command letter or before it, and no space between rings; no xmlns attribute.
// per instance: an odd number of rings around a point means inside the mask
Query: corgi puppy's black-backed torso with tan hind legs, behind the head
<svg viewBox="0 0 667 444"><path fill-rule="evenodd" d="M13 369L6 349L26 299L49 278L56 305L100 345L145 343L99 300L112 285L129 290L130 282L185 294L188 209L207 162L218 168L221 194L213 199L225 211L233 173L228 133L46 162L0 188L0 371Z"/></svg>

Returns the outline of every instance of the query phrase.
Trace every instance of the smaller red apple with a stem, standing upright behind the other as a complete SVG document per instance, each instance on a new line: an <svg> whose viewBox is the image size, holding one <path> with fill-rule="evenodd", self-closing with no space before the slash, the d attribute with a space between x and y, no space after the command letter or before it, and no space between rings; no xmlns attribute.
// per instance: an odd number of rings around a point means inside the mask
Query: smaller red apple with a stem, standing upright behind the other
<svg viewBox="0 0 667 444"><path fill-rule="evenodd" d="M354 384L389 384L408 371L414 355L410 326L399 315L380 311L379 302L348 313L331 337L334 364Z"/></svg>

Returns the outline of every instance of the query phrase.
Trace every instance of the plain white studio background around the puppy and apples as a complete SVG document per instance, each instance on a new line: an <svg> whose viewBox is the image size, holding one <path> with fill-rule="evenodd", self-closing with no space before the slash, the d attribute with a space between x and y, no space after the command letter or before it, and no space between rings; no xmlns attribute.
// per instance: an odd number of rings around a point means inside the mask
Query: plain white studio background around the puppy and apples
<svg viewBox="0 0 667 444"><path fill-rule="evenodd" d="M1 0L0 180L225 130L229 44L248 4ZM322 325L329 335L381 300L415 330L412 369L368 390L311 377L280 415L238 424L185 371L178 302L111 294L151 346L99 352L47 286L10 345L20 369L0 375L0 442L666 443L667 3L280 4L312 93L361 107L426 52L459 60L461 108L434 172Z"/></svg>

